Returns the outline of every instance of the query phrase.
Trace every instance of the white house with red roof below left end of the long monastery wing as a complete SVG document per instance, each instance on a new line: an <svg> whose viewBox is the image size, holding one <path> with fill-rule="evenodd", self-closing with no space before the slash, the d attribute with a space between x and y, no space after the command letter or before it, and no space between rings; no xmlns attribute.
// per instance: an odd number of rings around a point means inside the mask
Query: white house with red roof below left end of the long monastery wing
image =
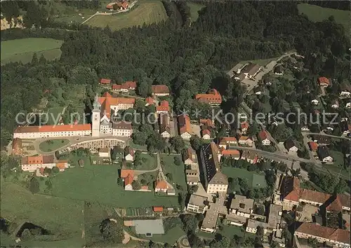
<svg viewBox="0 0 351 248"><path fill-rule="evenodd" d="M40 167L48 167L52 169L56 166L54 162L55 158L53 155L51 156L31 156L31 157L23 157L21 159L21 169L24 172L35 172L37 168Z"/></svg>

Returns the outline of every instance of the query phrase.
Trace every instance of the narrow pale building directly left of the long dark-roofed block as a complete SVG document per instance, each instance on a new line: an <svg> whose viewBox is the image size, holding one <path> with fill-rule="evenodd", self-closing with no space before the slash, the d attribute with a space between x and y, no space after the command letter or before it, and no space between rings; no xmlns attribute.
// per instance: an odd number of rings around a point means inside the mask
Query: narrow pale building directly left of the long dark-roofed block
<svg viewBox="0 0 351 248"><path fill-rule="evenodd" d="M185 164L185 175L187 184L198 185L200 182L199 163L197 161L197 154L191 148L187 148L183 153L183 161Z"/></svg>

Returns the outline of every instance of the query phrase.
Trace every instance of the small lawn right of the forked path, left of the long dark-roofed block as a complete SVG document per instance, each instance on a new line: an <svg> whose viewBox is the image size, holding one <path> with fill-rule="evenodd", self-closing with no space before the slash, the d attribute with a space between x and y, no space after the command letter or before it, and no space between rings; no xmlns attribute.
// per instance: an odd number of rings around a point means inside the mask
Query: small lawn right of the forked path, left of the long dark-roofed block
<svg viewBox="0 0 351 248"><path fill-rule="evenodd" d="M171 173L173 180L170 180L173 186L176 188L176 184L179 184L183 187L184 190L187 189L187 182L185 181L185 167L184 164L178 166L174 164L174 158L179 155L161 155L161 161L164 161L164 165L162 165L162 169L164 170L164 174Z"/></svg>

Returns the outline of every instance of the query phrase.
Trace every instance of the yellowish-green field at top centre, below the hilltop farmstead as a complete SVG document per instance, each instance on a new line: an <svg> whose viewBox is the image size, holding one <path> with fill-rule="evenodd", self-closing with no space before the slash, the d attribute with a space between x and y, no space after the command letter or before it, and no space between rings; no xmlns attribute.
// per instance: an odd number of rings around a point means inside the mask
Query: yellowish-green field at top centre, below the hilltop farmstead
<svg viewBox="0 0 351 248"><path fill-rule="evenodd" d="M161 1L139 1L126 13L117 15L95 15L86 25L92 27L106 27L112 30L119 30L125 27L143 26L144 23L152 24L166 20L167 15Z"/></svg>

